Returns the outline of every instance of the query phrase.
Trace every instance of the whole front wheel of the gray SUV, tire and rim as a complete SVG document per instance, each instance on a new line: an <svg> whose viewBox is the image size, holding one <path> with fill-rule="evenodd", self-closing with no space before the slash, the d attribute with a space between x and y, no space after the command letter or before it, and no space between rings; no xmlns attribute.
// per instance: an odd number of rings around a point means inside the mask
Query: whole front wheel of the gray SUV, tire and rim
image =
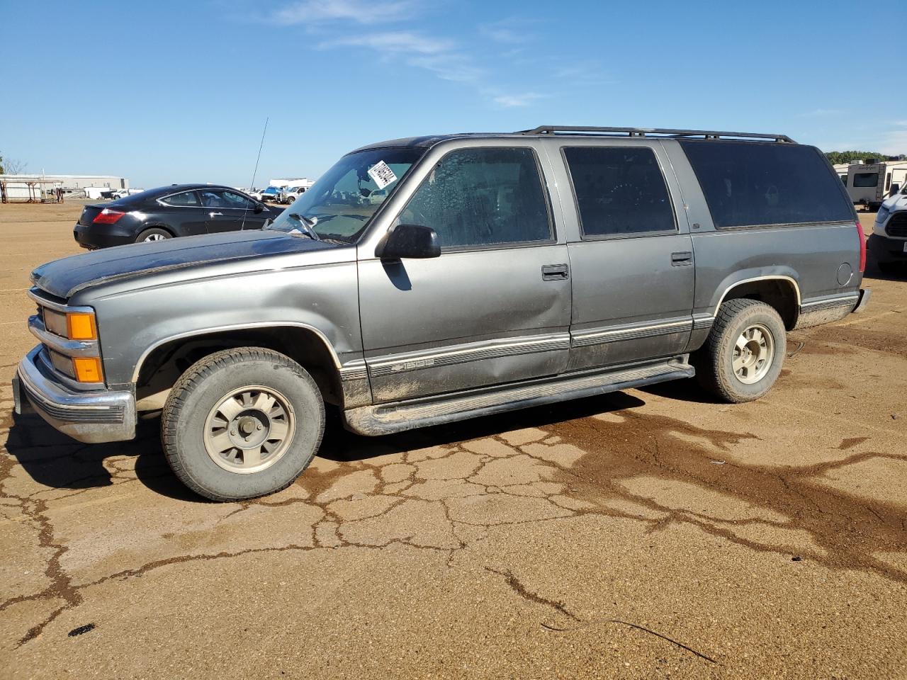
<svg viewBox="0 0 907 680"><path fill-rule="evenodd" d="M161 413L171 469L211 500L288 487L312 461L325 407L315 381L288 356L239 347L192 364Z"/></svg>

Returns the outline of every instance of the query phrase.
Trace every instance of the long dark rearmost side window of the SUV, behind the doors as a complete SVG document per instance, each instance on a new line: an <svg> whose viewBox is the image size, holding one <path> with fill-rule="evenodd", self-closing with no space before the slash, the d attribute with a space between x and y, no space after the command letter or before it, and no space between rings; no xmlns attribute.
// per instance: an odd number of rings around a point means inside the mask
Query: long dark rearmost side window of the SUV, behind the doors
<svg viewBox="0 0 907 680"><path fill-rule="evenodd" d="M853 219L850 199L814 147L680 141L717 228Z"/></svg>

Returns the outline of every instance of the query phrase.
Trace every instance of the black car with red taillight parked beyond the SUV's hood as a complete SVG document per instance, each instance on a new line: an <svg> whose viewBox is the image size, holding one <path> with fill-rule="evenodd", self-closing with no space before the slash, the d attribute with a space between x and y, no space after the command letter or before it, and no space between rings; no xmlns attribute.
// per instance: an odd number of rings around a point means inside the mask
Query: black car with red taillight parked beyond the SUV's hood
<svg viewBox="0 0 907 680"><path fill-rule="evenodd" d="M83 248L107 248L177 236L260 229L282 209L229 187L173 184L102 205L85 206L73 229Z"/></svg>

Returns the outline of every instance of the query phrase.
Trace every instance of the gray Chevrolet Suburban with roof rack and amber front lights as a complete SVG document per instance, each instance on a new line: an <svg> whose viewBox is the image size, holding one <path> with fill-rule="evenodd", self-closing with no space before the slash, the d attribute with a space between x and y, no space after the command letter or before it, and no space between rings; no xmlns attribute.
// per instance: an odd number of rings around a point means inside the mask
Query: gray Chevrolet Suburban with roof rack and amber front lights
<svg viewBox="0 0 907 680"><path fill-rule="evenodd" d="M378 435L694 374L766 393L785 332L859 311L840 180L784 135L540 127L353 151L262 231L38 267L16 408L82 442L161 411L180 480L278 491L325 405Z"/></svg>

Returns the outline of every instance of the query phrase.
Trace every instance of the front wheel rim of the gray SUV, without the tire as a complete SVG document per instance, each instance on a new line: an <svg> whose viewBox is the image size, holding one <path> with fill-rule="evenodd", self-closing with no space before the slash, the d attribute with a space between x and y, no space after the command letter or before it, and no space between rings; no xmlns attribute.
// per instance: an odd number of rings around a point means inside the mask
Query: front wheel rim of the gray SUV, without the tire
<svg viewBox="0 0 907 680"><path fill-rule="evenodd" d="M288 451L296 415L273 387L246 385L221 399L205 421L205 450L219 467L250 474L269 468Z"/></svg>

